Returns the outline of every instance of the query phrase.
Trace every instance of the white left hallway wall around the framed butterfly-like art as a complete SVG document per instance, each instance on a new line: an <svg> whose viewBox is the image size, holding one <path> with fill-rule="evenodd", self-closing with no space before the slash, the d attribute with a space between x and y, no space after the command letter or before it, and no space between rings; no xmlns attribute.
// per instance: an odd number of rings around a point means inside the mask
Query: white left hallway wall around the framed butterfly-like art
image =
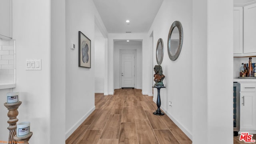
<svg viewBox="0 0 256 144"><path fill-rule="evenodd" d="M95 16L102 22L92 0L66 0L66 138L95 109ZM78 67L78 31L91 40L91 68Z"/></svg>

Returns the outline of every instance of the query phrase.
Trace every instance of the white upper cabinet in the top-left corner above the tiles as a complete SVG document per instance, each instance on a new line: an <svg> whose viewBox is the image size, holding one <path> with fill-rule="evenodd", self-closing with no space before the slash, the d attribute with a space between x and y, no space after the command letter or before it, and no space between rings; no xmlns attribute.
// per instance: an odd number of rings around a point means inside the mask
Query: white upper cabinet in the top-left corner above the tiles
<svg viewBox="0 0 256 144"><path fill-rule="evenodd" d="M0 0L0 38L12 38L12 0Z"/></svg>

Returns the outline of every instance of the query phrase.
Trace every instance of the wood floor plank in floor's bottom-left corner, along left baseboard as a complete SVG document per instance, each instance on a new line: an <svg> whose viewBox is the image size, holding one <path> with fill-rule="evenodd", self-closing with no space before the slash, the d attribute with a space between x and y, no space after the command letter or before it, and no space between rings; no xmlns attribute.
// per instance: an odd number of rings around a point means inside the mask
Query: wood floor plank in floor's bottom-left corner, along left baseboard
<svg viewBox="0 0 256 144"><path fill-rule="evenodd" d="M80 125L66 140L66 144L76 144L90 125Z"/></svg>

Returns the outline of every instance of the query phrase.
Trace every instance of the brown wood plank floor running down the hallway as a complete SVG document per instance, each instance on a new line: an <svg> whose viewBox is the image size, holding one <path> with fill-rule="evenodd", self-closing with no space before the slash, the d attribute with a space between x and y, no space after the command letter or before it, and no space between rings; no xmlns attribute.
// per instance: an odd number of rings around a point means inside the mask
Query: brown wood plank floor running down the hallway
<svg viewBox="0 0 256 144"><path fill-rule="evenodd" d="M66 140L66 144L191 144L192 141L157 109L141 90L95 94L96 110Z"/></svg>

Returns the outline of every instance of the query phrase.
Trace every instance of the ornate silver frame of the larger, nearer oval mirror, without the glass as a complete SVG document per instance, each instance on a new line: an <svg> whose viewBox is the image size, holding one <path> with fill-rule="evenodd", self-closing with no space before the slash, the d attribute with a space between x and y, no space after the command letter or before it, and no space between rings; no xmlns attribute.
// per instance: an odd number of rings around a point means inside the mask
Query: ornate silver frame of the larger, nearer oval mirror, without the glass
<svg viewBox="0 0 256 144"><path fill-rule="evenodd" d="M171 46L170 46L170 42L171 42L171 35L172 35L172 31L174 29L174 27L177 27L178 30L179 30L179 44L178 44L178 50L177 52L172 55L171 53ZM174 61L176 60L179 55L180 55L180 51L181 51L181 48L182 48L182 42L183 42L183 29L182 29L182 25L179 21L175 21L172 23L172 26L169 30L169 34L168 34L168 42L167 42L167 51L168 51L168 55L169 55L169 58L170 60Z"/></svg>

